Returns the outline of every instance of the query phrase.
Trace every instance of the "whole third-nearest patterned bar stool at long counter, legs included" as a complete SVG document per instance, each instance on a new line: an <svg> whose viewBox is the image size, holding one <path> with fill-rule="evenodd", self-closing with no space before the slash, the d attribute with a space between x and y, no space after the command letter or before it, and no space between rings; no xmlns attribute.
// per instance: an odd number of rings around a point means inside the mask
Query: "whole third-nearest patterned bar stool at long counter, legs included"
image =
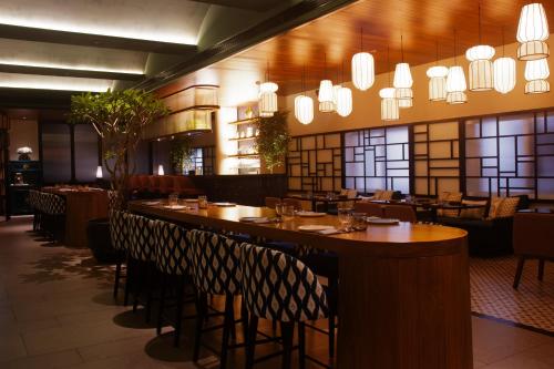
<svg viewBox="0 0 554 369"><path fill-rule="evenodd" d="M161 274L160 309L156 331L162 332L164 310L167 307L167 289L175 290L174 345L178 347L183 318L185 286L192 274L192 250L187 240L188 230L176 224L156 221L156 269Z"/></svg>

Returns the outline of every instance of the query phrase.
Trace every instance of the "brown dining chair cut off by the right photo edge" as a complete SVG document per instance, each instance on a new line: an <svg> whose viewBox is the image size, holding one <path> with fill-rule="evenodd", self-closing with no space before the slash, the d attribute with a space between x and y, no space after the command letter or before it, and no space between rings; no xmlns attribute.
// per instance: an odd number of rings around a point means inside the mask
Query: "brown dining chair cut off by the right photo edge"
<svg viewBox="0 0 554 369"><path fill-rule="evenodd" d="M544 278L544 263L554 262L554 215L516 213L513 225L514 254L519 257L513 288L520 286L523 266L527 259L538 259L538 280Z"/></svg>

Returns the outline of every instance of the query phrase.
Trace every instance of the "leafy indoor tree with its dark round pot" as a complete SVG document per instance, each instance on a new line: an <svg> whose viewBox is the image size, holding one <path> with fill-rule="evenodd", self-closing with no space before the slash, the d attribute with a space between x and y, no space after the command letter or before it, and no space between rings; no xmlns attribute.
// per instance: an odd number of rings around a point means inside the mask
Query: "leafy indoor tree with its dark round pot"
<svg viewBox="0 0 554 369"><path fill-rule="evenodd" d="M164 103L138 90L85 93L71 98L70 122L89 123L102 137L103 163L115 194L114 207L125 209L130 198L129 178L135 171L134 153L143 129L168 113ZM100 262L117 255L110 240L107 219L93 219L88 227L89 247Z"/></svg>

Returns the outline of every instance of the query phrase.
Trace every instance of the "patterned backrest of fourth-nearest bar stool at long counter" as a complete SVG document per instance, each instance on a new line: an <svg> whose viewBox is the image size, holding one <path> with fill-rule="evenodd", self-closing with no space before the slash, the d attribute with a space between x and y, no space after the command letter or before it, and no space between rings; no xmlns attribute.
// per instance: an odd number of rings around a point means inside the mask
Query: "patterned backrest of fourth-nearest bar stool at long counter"
<svg viewBox="0 0 554 369"><path fill-rule="evenodd" d="M155 260L155 221L135 214L129 214L127 219L131 257L142 262Z"/></svg>

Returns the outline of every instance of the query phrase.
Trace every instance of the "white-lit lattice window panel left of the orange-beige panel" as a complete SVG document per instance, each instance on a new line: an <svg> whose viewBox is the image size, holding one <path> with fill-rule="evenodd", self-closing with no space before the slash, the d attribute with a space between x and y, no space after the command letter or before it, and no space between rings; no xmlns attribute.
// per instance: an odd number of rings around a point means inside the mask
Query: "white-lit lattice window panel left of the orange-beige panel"
<svg viewBox="0 0 554 369"><path fill-rule="evenodd" d="M345 133L345 186L358 192L410 193L408 126Z"/></svg>

